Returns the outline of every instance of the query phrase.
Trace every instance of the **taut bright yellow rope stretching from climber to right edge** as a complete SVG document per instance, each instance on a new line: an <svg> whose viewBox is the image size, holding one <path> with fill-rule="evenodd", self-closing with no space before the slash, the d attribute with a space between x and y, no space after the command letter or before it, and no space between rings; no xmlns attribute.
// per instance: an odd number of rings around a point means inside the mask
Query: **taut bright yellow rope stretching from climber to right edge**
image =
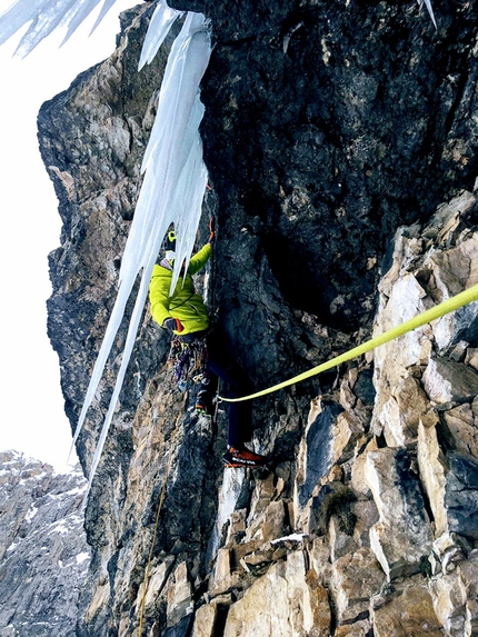
<svg viewBox="0 0 478 637"><path fill-rule="evenodd" d="M261 391L257 391L256 394L250 394L249 396L242 396L241 398L225 398L223 396L220 396L219 399L226 400L227 402L240 402L241 400L250 400L251 398L259 398L259 396L266 396L267 394L272 394L273 391L278 391L279 389L283 389L285 387L289 387L290 385L295 385L296 382L300 382L301 380L306 380L311 376L317 376L318 374L321 374L322 371L326 371L331 367L337 367L342 362L345 362L346 360L350 360L352 358L361 356L366 351L370 351L371 349L375 349L380 345L394 340L399 336L412 331L418 327L421 327L437 318L440 318L449 312L452 312L476 300L478 300L478 285L472 286L468 290L465 290L464 292L460 292L459 295L451 297L450 299L439 303L438 306L435 306L434 308L430 308L429 310L426 310L425 312L414 317L412 319L407 320L401 325L385 331L380 336L377 336L364 342L362 345L355 347L353 349L349 349L348 351L341 354L340 356L336 356L335 358L328 360L327 362L322 362L321 365L312 367L312 369L309 369L303 374L299 374L293 378L289 378L289 380L285 380L283 382L279 382L278 385L273 385L272 387L269 387L268 389L262 389Z"/></svg>

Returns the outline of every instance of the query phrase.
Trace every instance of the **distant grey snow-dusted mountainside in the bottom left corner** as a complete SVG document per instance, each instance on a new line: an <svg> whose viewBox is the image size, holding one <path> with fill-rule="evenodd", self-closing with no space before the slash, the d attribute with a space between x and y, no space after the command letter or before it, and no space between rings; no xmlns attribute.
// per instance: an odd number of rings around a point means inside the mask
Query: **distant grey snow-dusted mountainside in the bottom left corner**
<svg viewBox="0 0 478 637"><path fill-rule="evenodd" d="M0 454L0 633L73 637L90 564L80 470Z"/></svg>

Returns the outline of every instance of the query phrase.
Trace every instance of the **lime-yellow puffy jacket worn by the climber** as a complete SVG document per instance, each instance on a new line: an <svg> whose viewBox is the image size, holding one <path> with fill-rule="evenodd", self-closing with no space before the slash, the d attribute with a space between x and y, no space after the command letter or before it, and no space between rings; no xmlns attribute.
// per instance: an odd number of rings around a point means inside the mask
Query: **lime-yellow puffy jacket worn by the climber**
<svg viewBox="0 0 478 637"><path fill-rule="evenodd" d="M212 246L206 243L189 261L188 271L180 276L172 296L169 296L172 270L156 265L149 283L149 300L152 318L160 326L168 318L177 318L185 327L180 334L185 336L202 331L209 327L209 313L200 295L195 291L192 275L205 267L212 255Z"/></svg>

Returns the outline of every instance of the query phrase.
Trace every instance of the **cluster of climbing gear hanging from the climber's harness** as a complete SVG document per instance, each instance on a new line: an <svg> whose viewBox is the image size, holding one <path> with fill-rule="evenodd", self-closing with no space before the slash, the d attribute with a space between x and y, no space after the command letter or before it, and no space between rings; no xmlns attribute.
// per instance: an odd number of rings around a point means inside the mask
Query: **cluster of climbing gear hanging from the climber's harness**
<svg viewBox="0 0 478 637"><path fill-rule="evenodd" d="M206 338L183 342L175 338L171 342L168 362L173 368L175 382L179 391L185 391L188 381L200 381L208 366L208 346Z"/></svg>

